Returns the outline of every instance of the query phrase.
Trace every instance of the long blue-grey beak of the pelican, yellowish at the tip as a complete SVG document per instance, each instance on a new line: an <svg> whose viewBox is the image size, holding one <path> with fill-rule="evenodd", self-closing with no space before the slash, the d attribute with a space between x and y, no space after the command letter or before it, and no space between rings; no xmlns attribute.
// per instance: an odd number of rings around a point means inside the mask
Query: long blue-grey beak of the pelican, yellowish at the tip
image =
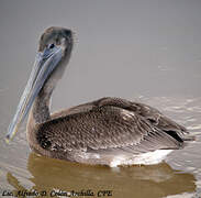
<svg viewBox="0 0 201 198"><path fill-rule="evenodd" d="M24 121L33 105L33 101L44 86L45 80L62 59L62 56L63 50L58 46L55 46L54 48L45 48L43 53L37 53L27 85L21 97L13 120L8 128L8 133L5 136L7 143L9 143L9 141L14 136L20 124Z"/></svg>

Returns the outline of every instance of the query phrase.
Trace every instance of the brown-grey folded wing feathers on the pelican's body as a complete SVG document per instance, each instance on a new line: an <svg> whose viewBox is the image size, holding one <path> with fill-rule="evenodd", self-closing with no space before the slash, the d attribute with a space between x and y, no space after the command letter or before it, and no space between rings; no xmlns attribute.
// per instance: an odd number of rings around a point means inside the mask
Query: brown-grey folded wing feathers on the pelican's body
<svg viewBox="0 0 201 198"><path fill-rule="evenodd" d="M81 105L53 118L56 119L40 125L36 136L44 148L56 152L144 153L179 148L182 140L166 131L186 132L149 106L116 98Z"/></svg>

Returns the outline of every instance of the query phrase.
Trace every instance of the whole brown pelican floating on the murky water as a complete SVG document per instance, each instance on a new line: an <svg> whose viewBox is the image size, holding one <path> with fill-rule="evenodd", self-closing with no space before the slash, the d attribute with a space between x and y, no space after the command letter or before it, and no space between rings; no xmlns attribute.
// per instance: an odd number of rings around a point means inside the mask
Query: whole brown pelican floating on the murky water
<svg viewBox="0 0 201 198"><path fill-rule="evenodd" d="M30 147L48 157L110 166L156 164L172 150L182 148L187 129L144 103L101 98L51 114L49 100L69 62L72 35L70 30L49 28L41 36L7 140L30 112Z"/></svg>

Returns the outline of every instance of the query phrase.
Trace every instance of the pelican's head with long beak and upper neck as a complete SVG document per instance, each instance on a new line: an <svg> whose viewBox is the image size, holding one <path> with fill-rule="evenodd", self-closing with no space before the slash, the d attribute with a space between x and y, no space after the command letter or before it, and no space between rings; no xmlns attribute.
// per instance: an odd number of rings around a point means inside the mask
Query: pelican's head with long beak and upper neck
<svg viewBox="0 0 201 198"><path fill-rule="evenodd" d="M72 32L68 29L54 26L42 34L32 73L8 129L7 142L14 136L40 91L44 87L53 91L70 58L72 44Z"/></svg>

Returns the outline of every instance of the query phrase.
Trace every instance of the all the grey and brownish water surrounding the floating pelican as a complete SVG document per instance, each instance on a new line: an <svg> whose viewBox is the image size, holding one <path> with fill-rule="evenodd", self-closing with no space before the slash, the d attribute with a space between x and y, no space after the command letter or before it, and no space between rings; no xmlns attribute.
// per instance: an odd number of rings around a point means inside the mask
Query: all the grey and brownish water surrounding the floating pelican
<svg viewBox="0 0 201 198"><path fill-rule="evenodd" d="M46 191L46 197L70 193L79 197L201 197L200 8L201 2L186 0L2 0L0 197L20 190ZM104 96L122 97L158 108L197 140L161 164L119 168L37 156L29 148L25 123L7 145L2 138L29 77L37 38L49 25L71 28L79 40L54 92L53 111Z"/></svg>

